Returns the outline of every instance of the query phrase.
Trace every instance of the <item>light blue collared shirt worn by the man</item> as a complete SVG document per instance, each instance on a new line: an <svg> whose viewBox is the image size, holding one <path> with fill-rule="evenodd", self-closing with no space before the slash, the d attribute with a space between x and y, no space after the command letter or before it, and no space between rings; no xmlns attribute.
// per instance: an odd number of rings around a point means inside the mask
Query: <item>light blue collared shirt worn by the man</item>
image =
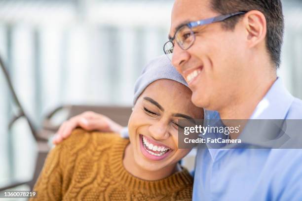
<svg viewBox="0 0 302 201"><path fill-rule="evenodd" d="M278 78L251 119L302 119L302 100ZM193 201L279 200L302 201L302 149L197 149Z"/></svg>

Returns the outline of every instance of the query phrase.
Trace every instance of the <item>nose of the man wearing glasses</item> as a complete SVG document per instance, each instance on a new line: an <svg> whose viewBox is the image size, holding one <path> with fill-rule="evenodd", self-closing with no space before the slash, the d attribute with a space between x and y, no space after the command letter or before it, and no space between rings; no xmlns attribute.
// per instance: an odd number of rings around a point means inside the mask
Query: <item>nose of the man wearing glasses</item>
<svg viewBox="0 0 302 201"><path fill-rule="evenodd" d="M179 73L182 73L186 69L182 69L184 63L190 58L188 51L183 50L177 43L174 45L172 64Z"/></svg>

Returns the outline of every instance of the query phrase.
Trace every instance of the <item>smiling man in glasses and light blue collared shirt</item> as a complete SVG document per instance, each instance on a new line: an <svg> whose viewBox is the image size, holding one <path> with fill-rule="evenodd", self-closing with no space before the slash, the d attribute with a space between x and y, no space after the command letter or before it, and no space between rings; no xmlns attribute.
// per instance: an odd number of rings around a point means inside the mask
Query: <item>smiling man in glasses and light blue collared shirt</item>
<svg viewBox="0 0 302 201"><path fill-rule="evenodd" d="M302 119L302 101L276 75L280 0L176 0L171 23L165 54L205 118ZM302 200L302 150L253 145L198 149L193 200Z"/></svg>

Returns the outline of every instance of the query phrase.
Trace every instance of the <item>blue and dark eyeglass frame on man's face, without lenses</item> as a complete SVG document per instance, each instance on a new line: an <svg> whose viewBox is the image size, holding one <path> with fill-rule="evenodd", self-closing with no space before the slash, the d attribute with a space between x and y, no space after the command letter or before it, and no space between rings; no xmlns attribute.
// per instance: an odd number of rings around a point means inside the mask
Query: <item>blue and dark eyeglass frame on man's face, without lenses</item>
<svg viewBox="0 0 302 201"><path fill-rule="evenodd" d="M203 19L203 20L198 20L198 21L194 21L194 22L189 22L188 24L184 24L182 25L181 27L179 27L176 32L174 33L174 36L172 38L170 38L167 42L165 42L164 46L163 46L163 51L165 53L165 55L168 55L165 51L165 46L168 42L171 42L173 44L173 49L174 49L174 43L173 43L173 40L175 40L175 36L176 34L178 33L178 31L180 29L182 29L183 27L185 26L188 26L189 29L191 30L192 28L194 27L197 27L197 26L203 26L203 25L208 25L208 24L212 24L212 23L216 23L216 22L223 22L225 20L227 20L228 18L231 18L231 17L234 17L234 16L237 16L237 15L242 15L242 14L246 14L248 11L238 11L238 12L235 12L235 13L230 13L230 14L226 14L226 15L219 15L219 16L216 16L216 17L212 17L212 18L207 18L207 19ZM192 31L192 30L191 30ZM177 42L177 41L176 41ZM183 48L178 42L177 44L180 46L180 48L182 48L183 50L188 50L195 42L195 34L193 33L193 42L192 44L189 45L188 48ZM173 53L173 52L172 52ZM171 54L171 53L169 53Z"/></svg>

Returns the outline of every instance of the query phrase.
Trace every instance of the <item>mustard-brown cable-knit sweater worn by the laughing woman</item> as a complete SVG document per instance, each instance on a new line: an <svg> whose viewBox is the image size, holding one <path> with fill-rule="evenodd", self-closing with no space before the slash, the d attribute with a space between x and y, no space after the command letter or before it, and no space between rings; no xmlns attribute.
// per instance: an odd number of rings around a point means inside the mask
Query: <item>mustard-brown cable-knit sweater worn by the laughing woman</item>
<svg viewBox="0 0 302 201"><path fill-rule="evenodd" d="M131 175L122 164L128 139L76 129L53 148L34 187L33 201L189 201L187 169L157 181Z"/></svg>

